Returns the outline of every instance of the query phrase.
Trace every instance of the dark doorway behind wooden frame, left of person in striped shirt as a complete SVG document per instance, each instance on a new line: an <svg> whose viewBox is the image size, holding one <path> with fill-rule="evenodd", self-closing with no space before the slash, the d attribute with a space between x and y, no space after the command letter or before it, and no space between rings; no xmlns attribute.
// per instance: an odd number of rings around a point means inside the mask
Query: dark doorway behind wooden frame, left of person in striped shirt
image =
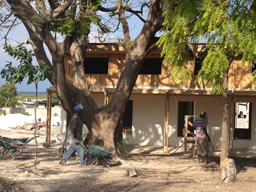
<svg viewBox="0 0 256 192"><path fill-rule="evenodd" d="M179 101L178 104L178 137L183 137L184 129L184 118L185 116L193 116L194 113L194 102L193 101ZM194 118L190 118L189 121L193 125ZM192 126L188 125L187 129L191 132L194 132ZM187 137L193 137L190 134L187 134Z"/></svg>

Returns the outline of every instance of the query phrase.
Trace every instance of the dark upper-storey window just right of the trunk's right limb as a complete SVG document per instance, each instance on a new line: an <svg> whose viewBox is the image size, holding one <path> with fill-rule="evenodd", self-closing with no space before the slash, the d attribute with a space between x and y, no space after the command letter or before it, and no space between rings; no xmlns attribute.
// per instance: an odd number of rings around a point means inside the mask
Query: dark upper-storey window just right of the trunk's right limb
<svg viewBox="0 0 256 192"><path fill-rule="evenodd" d="M161 58L145 58L140 75L161 75L163 60Z"/></svg>

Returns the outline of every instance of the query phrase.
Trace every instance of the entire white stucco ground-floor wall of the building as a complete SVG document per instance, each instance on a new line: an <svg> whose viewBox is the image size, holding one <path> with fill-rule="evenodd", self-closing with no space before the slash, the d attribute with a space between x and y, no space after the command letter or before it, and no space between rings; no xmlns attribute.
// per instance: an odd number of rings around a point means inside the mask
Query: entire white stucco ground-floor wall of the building
<svg viewBox="0 0 256 192"><path fill-rule="evenodd" d="M92 93L99 106L104 105L104 93ZM111 99L111 94L110 94ZM133 128L132 135L123 135L128 144L163 146L165 94L132 94ZM195 102L195 115L206 111L208 115L208 134L212 147L220 149L222 135L222 96L170 95L169 106L169 146L180 146L183 137L178 137L178 102ZM256 101L254 97L236 97L234 102L252 103L251 140L234 140L234 149L256 149ZM64 110L63 110L64 111ZM65 126L65 115L61 111L61 127ZM63 128L62 128L63 129Z"/></svg>

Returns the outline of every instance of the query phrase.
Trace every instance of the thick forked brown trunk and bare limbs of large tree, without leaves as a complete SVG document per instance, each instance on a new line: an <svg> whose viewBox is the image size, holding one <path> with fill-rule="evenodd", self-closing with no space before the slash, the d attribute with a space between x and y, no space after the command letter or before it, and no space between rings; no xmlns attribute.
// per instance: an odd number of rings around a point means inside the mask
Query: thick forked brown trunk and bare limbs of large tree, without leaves
<svg viewBox="0 0 256 192"><path fill-rule="evenodd" d="M75 34L73 37L66 36L63 41L58 42L58 39L52 36L50 31L51 26L48 21L65 16L65 11L70 8L73 1L58 2L56 5L51 4L51 9L48 9L41 1L36 3L36 9L28 1L7 0L7 2L16 11L17 17L19 17L30 34L28 43L32 45L38 63L40 65L46 64L51 69L49 80L57 90L64 110L72 114L72 108L75 105L83 105L84 109L81 120L92 133L92 143L101 143L105 147L114 149L114 141L120 139L120 128L122 128L120 120L123 117L126 105L133 91L140 68L151 46L157 42L155 34L163 23L163 2L160 0L150 1L145 25L143 25L142 31L134 40L134 43L131 43L130 29L124 14L126 6L122 7L122 1L117 1L119 5L117 7L119 8L116 11L118 11L124 39L127 43L126 60L113 97L110 103L104 107L98 107L89 90L87 90L87 85L84 81L83 59L89 43L88 36L90 32L87 31L87 34ZM83 20L84 14L87 14L86 11L90 10L90 8L87 10L87 7L80 7L80 10L73 8L75 7L71 7L73 13L80 11L77 16L82 18L81 20ZM92 13L91 11L89 12ZM35 23L33 19L35 16L47 22ZM87 22L84 22L84 25L87 24ZM48 59L43 45L46 45L51 53L51 60ZM64 57L67 52L71 54L70 60L73 66L72 83L66 81Z"/></svg>

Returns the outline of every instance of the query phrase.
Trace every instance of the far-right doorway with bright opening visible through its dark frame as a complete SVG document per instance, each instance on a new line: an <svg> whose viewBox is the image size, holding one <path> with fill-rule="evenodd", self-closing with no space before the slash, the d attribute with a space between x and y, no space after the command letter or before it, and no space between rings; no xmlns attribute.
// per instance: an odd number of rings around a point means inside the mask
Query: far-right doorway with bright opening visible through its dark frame
<svg viewBox="0 0 256 192"><path fill-rule="evenodd" d="M236 102L234 105L234 139L251 140L252 104Z"/></svg>

